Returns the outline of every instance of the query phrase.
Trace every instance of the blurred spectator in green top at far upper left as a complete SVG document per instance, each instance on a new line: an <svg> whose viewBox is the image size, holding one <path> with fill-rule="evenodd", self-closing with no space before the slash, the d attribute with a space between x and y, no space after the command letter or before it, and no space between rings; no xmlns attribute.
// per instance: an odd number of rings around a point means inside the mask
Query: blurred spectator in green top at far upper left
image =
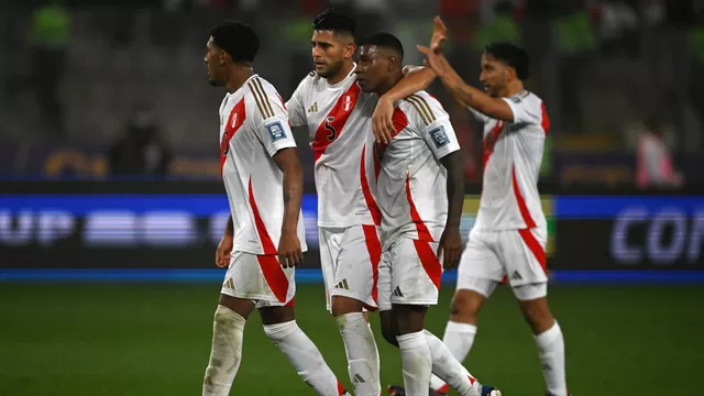
<svg viewBox="0 0 704 396"><path fill-rule="evenodd" d="M32 16L30 43L33 50L32 74L42 128L64 135L61 82L66 68L70 15L61 1L40 6Z"/></svg>

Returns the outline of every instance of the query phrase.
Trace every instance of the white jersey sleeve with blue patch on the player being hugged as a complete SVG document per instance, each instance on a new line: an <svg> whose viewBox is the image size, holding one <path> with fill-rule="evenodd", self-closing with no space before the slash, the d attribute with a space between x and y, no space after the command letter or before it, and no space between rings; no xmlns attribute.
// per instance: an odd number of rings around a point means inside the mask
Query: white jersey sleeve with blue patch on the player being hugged
<svg viewBox="0 0 704 396"><path fill-rule="evenodd" d="M450 122L450 116L442 109L440 102L430 97L414 95L407 99L409 123L426 141L436 158L460 150L460 143Z"/></svg>

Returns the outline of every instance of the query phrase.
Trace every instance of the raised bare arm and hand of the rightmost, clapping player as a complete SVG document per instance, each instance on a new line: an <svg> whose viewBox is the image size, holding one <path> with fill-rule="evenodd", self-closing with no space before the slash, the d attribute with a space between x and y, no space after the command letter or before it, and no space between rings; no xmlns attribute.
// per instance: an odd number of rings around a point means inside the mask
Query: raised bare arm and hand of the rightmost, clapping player
<svg viewBox="0 0 704 396"><path fill-rule="evenodd" d="M435 19L435 29L430 47L418 45L418 51L426 55L426 65L430 67L442 81L446 89L455 101L463 107L471 107L481 113L502 121L514 121L510 106L501 98L493 98L476 89L462 79L442 54L447 40L447 28L439 16Z"/></svg>

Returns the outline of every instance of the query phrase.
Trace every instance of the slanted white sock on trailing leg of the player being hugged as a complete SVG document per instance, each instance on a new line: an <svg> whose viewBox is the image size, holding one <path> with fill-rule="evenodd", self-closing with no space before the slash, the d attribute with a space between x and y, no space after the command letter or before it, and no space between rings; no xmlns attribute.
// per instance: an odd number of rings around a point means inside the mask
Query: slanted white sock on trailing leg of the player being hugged
<svg viewBox="0 0 704 396"><path fill-rule="evenodd" d="M433 387L432 383L430 384L433 391L447 392L448 385L443 382L444 380L462 396L480 396L482 394L482 385L479 381L474 380L439 338L426 330L426 341L432 356L432 372L442 378L438 378L441 384L438 388ZM437 378L435 375L433 377Z"/></svg>

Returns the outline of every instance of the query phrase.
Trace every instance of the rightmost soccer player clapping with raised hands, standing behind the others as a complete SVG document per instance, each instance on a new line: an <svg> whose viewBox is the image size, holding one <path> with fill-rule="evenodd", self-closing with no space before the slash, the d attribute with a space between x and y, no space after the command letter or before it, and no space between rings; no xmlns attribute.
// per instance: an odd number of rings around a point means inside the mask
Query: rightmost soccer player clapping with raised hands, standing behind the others
<svg viewBox="0 0 704 396"><path fill-rule="evenodd" d="M508 278L538 345L550 396L568 394L564 340L548 307L548 230L538 176L550 120L542 100L524 87L528 54L508 43L486 46L480 80L466 85L442 55L447 30L436 18L431 46L418 48L454 99L484 122L484 180L476 222L460 270L444 343L463 361L484 300ZM443 386L433 378L433 387Z"/></svg>

